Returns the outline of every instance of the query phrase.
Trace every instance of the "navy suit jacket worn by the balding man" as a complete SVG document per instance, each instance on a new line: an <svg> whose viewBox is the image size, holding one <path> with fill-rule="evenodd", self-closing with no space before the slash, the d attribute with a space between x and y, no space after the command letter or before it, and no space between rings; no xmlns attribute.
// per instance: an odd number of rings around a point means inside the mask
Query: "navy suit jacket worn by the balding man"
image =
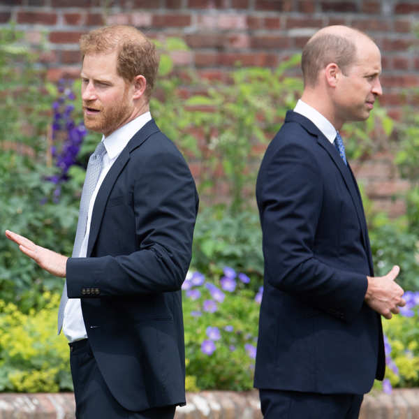
<svg viewBox="0 0 419 419"><path fill-rule="evenodd" d="M260 166L265 279L255 387L362 394L383 378L381 318L358 186L335 146L288 112Z"/></svg>

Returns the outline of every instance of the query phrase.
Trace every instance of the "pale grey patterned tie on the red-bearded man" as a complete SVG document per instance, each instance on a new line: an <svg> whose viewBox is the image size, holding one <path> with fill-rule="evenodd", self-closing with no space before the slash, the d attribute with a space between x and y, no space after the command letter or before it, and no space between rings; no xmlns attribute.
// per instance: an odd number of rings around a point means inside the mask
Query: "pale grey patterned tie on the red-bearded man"
<svg viewBox="0 0 419 419"><path fill-rule="evenodd" d="M77 224L77 230L75 233L75 240L73 246L73 258L78 258L84 235L86 233L87 216L89 214L89 204L91 196L94 193L96 184L98 183L99 175L103 166L103 156L106 153L105 145L103 141L99 142L94 153L91 154L89 163L87 163L86 177L84 178L84 185L82 190L82 198L80 199L80 211ZM61 301L59 302L58 309L58 334L61 332L64 321L64 309L68 301L67 295L67 281L64 284L63 293L61 294Z"/></svg>

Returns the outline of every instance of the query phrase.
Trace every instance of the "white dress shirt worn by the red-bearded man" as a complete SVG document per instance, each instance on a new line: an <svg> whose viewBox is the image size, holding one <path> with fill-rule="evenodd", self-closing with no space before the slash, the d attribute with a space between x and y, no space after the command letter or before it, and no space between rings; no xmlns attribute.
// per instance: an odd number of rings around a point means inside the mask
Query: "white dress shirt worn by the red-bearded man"
<svg viewBox="0 0 419 419"><path fill-rule="evenodd" d="M103 156L103 166L101 170L101 175L99 175L98 183L94 189L94 193L91 195L89 203L89 213L87 215L87 225L86 225L86 234L80 248L79 258L85 258L87 254L87 244L89 243L89 233L90 233L90 223L91 223L91 213L93 212L94 201L98 194L98 190L101 187L103 179L109 172L112 164L115 162L119 154L126 147L129 140L133 138L133 135L140 130L149 120L152 119L150 112L145 112L144 114L136 117L128 124L123 125L121 128L118 128L117 131L114 131L108 137L102 137L103 144L105 145L106 153ZM87 338L86 328L84 326L84 320L82 316L82 306L80 298L70 298L64 309L64 323L63 323L63 332L66 335L68 341L78 341L80 339Z"/></svg>

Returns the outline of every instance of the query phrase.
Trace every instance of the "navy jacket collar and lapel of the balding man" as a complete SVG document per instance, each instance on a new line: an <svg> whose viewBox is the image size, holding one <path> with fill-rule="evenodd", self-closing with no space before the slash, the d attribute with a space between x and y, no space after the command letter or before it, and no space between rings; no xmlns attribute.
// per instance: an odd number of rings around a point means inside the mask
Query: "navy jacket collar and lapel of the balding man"
<svg viewBox="0 0 419 419"><path fill-rule="evenodd" d="M365 247L365 251L368 255L368 261L370 268L372 270L372 256L371 256L371 249L369 247L369 239L367 233L367 223L365 221L365 214L362 208L362 200L360 197L360 193L358 190L358 185L356 184L355 177L353 176L351 167L345 165L344 161L342 160L341 156L337 152L337 149L334 145L328 140L328 138L323 135L323 133L317 128L316 125L313 124L309 119L306 117L297 114L297 112L288 111L286 115L285 122L298 122L301 124L306 131L311 133L311 135L316 136L318 145L323 147L326 152L328 152L332 161L334 161L335 165L337 166L341 176L344 178L344 182L346 187L348 188L349 194L351 195L353 205L355 207L355 212L358 216L358 222L360 223L360 228L362 232L362 241Z"/></svg>

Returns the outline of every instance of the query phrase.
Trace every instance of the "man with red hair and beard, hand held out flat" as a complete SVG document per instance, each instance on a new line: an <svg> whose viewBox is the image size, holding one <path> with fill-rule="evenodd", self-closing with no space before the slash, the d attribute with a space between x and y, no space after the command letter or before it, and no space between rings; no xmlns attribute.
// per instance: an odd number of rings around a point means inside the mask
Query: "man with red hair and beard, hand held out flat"
<svg viewBox="0 0 419 419"><path fill-rule="evenodd" d="M78 419L173 418L185 403L181 286L198 194L149 112L159 59L133 27L82 36L84 124L103 134L89 159L73 256L9 230L43 269L66 277L59 307Z"/></svg>

